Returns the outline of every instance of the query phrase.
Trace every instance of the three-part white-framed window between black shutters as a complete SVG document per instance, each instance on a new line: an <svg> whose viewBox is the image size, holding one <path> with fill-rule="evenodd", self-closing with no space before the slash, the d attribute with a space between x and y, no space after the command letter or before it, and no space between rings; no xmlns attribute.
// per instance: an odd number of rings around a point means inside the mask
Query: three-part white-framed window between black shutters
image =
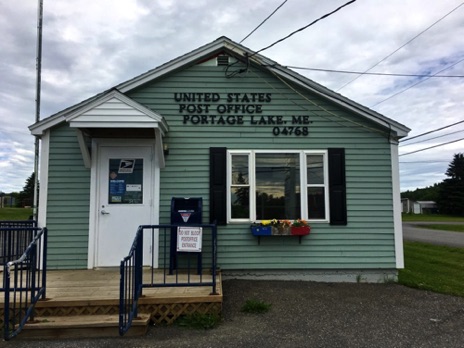
<svg viewBox="0 0 464 348"><path fill-rule="evenodd" d="M327 151L228 151L228 221L328 220Z"/></svg>

